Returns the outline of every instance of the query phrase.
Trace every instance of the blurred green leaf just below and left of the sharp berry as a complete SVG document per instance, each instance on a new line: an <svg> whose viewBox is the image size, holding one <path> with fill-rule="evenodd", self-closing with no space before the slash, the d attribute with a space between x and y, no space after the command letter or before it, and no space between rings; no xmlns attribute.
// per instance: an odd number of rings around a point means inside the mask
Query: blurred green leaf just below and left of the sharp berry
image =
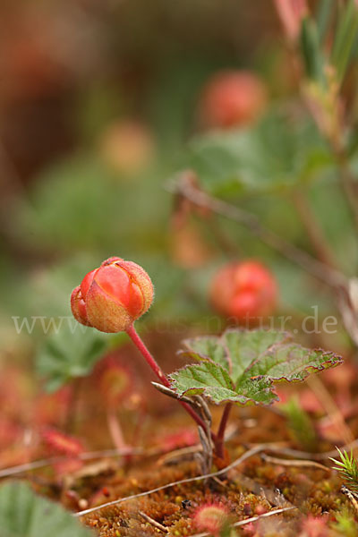
<svg viewBox="0 0 358 537"><path fill-rule="evenodd" d="M57 333L47 337L38 350L38 374L47 379L47 390L55 391L66 382L85 377L104 354L105 336L93 328L85 328L73 320L73 326L64 325Z"/></svg>

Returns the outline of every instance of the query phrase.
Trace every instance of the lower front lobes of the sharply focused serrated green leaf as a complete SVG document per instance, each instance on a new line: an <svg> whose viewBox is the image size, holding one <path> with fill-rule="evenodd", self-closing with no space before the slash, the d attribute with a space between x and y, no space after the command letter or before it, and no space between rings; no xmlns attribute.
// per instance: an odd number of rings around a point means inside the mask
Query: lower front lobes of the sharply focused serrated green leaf
<svg viewBox="0 0 358 537"><path fill-rule="evenodd" d="M243 382L239 388L234 388L226 369L209 360L188 365L170 375L170 379L172 387L180 396L203 394L216 404L231 401L240 405L269 405L277 400L268 379L250 379L249 382Z"/></svg>

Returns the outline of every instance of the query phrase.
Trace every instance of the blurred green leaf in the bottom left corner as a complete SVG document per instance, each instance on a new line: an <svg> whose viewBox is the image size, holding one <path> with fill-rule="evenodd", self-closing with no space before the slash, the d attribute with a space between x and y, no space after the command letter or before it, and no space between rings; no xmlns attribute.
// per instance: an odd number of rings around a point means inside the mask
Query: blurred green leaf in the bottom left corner
<svg viewBox="0 0 358 537"><path fill-rule="evenodd" d="M0 527L2 537L94 537L63 507L23 482L0 487Z"/></svg>

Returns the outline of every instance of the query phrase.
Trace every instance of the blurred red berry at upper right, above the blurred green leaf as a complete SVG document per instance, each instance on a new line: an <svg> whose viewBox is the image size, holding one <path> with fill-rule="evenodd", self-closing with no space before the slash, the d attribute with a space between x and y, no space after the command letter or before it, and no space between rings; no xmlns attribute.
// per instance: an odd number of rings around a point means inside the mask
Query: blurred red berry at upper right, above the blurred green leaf
<svg viewBox="0 0 358 537"><path fill-rule="evenodd" d="M227 129L251 124L267 100L260 78L248 71L217 72L207 83L200 101L200 119L209 128Z"/></svg>

